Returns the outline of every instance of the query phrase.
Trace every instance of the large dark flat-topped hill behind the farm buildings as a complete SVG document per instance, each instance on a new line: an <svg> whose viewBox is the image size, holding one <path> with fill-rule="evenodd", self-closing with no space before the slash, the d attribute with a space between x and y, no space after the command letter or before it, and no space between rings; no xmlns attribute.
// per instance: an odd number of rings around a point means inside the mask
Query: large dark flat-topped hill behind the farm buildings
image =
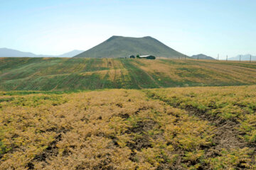
<svg viewBox="0 0 256 170"><path fill-rule="evenodd" d="M127 57L129 55L154 55L169 58L186 56L149 36L143 38L112 36L75 57Z"/></svg>

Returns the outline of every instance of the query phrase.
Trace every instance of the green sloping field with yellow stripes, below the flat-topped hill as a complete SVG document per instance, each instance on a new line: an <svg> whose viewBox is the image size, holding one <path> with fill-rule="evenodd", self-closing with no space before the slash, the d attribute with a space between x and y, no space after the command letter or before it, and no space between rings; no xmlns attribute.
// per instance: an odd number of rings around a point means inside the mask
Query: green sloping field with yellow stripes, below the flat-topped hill
<svg viewBox="0 0 256 170"><path fill-rule="evenodd" d="M256 64L207 60L0 58L0 90L74 91L256 83Z"/></svg>

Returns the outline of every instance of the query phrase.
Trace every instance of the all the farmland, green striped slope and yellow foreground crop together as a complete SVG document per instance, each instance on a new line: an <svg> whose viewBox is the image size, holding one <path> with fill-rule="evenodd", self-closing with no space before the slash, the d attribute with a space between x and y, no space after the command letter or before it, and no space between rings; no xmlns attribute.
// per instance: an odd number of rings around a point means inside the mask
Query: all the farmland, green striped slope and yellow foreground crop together
<svg viewBox="0 0 256 170"><path fill-rule="evenodd" d="M0 58L0 169L256 169L255 83L254 62Z"/></svg>

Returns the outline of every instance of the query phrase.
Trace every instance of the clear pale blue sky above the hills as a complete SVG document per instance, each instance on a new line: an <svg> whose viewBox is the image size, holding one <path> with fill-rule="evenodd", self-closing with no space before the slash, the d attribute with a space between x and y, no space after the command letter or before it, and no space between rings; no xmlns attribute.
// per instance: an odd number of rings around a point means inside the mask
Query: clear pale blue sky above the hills
<svg viewBox="0 0 256 170"><path fill-rule="evenodd" d="M112 35L151 36L185 55L256 55L255 0L0 0L0 47L88 50Z"/></svg>

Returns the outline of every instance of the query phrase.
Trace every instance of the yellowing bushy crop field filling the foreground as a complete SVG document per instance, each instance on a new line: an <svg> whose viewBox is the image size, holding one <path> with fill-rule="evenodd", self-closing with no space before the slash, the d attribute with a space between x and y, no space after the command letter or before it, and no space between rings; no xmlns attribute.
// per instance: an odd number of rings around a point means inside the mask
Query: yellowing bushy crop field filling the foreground
<svg viewBox="0 0 256 170"><path fill-rule="evenodd" d="M256 86L2 91L0 169L256 169L255 120Z"/></svg>

